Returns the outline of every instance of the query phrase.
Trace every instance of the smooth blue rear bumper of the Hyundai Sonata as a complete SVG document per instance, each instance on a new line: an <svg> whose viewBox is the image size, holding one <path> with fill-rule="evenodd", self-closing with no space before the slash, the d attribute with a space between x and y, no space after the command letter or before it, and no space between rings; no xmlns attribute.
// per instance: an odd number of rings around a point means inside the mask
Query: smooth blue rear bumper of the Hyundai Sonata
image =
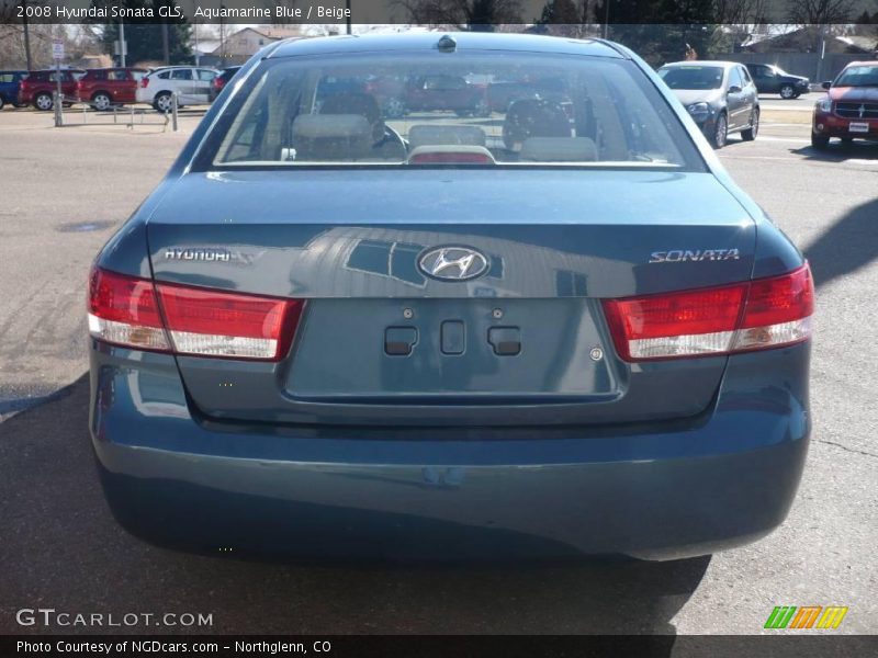
<svg viewBox="0 0 878 658"><path fill-rule="evenodd" d="M686 422L455 432L213 423L190 412L171 358L95 343L90 426L116 518L159 542L674 559L785 519L808 449L809 349L733 356L714 404Z"/></svg>

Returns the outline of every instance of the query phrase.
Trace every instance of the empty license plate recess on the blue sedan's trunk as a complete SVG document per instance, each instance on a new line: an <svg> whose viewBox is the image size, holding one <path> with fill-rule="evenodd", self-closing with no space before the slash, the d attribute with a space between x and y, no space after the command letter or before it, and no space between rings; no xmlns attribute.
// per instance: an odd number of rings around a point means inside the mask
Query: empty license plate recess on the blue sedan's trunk
<svg viewBox="0 0 878 658"><path fill-rule="evenodd" d="M314 299L285 378L301 400L571 401L619 395L597 303L558 299Z"/></svg>

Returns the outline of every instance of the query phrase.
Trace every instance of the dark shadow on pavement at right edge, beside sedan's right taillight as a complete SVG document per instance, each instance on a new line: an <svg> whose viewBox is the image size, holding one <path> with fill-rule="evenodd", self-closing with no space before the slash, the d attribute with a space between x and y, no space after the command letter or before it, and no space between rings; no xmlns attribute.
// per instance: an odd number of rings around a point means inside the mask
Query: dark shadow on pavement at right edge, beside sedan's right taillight
<svg viewBox="0 0 878 658"><path fill-rule="evenodd" d="M856 206L804 249L818 287L878 258L878 198Z"/></svg>

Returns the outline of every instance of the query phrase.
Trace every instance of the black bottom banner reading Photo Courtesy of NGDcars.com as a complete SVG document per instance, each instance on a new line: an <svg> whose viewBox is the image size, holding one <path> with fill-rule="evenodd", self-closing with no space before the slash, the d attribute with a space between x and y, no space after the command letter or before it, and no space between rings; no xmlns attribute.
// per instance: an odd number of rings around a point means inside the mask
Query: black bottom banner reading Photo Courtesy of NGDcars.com
<svg viewBox="0 0 878 658"><path fill-rule="evenodd" d="M878 656L878 635L4 635L0 656L504 656L506 658L688 657L823 658Z"/></svg>

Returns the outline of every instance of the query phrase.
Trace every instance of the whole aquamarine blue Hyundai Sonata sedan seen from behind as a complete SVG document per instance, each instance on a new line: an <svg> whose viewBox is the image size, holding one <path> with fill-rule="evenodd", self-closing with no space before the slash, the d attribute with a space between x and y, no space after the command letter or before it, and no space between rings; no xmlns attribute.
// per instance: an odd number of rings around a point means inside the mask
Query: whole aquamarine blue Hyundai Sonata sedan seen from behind
<svg viewBox="0 0 878 658"><path fill-rule="evenodd" d="M812 307L622 47L281 43L95 261L91 434L116 518L172 545L707 554L791 504Z"/></svg>

